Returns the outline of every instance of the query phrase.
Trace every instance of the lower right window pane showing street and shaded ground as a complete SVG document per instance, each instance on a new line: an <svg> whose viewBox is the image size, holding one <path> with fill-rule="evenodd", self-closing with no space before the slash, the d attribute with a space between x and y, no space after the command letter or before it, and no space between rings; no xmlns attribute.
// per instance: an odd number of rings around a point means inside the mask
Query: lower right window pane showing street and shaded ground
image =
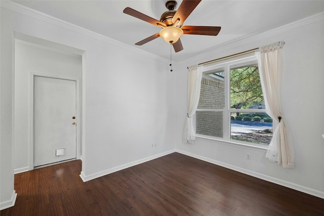
<svg viewBox="0 0 324 216"><path fill-rule="evenodd" d="M231 139L269 145L272 119L266 113L231 112Z"/></svg>

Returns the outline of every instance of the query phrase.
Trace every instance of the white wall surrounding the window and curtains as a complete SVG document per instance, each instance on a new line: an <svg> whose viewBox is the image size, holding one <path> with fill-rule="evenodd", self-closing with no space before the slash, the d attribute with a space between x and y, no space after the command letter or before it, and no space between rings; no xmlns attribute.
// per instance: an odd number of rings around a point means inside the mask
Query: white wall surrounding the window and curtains
<svg viewBox="0 0 324 216"><path fill-rule="evenodd" d="M178 63L177 130L179 152L204 159L280 185L324 198L324 13L261 35L219 47ZM262 149L197 139L182 142L186 116L189 65L206 62L276 41L285 41L282 65L282 117L295 146L295 168L285 169L265 158ZM251 154L251 160L246 155Z"/></svg>

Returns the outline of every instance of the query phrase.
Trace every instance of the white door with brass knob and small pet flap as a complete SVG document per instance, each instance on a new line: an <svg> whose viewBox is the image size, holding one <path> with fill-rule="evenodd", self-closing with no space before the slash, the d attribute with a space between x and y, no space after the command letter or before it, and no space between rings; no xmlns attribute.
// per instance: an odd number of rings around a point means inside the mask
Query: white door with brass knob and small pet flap
<svg viewBox="0 0 324 216"><path fill-rule="evenodd" d="M76 158L76 81L34 76L34 167Z"/></svg>

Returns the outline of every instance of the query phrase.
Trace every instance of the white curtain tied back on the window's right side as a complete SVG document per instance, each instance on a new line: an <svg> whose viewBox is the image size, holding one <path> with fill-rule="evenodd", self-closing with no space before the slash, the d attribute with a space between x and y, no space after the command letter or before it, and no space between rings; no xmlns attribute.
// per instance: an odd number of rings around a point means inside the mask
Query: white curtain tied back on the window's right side
<svg viewBox="0 0 324 216"><path fill-rule="evenodd" d="M266 112L273 119L275 128L266 157L285 168L293 168L295 155L288 142L285 116L280 110L281 50L283 41L263 46L256 52Z"/></svg>

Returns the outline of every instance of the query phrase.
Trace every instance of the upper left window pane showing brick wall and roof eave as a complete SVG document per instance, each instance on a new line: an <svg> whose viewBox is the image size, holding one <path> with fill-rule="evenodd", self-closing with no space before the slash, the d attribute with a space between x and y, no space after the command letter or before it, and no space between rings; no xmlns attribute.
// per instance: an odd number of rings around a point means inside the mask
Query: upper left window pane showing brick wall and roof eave
<svg viewBox="0 0 324 216"><path fill-rule="evenodd" d="M198 109L224 109L224 69L201 79Z"/></svg>

